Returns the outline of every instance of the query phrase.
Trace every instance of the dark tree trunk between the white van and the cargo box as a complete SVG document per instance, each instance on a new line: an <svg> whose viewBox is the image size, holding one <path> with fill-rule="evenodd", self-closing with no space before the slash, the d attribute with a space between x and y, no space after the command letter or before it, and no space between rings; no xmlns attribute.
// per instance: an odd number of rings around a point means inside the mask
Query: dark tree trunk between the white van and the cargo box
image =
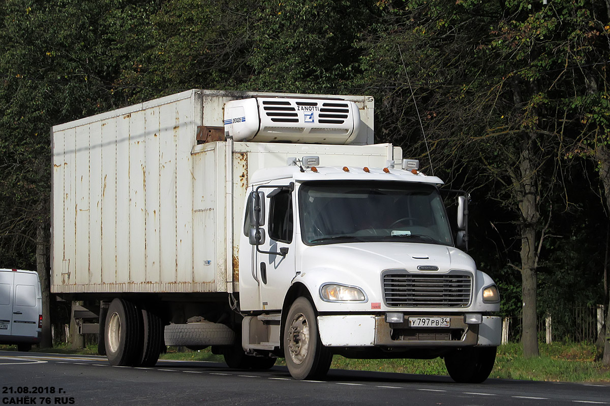
<svg viewBox="0 0 610 406"><path fill-rule="evenodd" d="M45 222L36 230L36 271L42 289L42 337L40 348L51 348L51 272L49 267L49 233Z"/></svg>

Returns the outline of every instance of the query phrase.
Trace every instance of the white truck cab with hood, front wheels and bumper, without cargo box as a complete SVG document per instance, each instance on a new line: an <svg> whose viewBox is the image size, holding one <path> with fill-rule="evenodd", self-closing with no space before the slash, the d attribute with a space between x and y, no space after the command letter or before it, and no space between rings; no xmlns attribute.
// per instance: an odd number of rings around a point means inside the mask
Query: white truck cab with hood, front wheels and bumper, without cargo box
<svg viewBox="0 0 610 406"><path fill-rule="evenodd" d="M325 373L327 353L441 356L454 379L486 379L500 298L456 248L442 181L417 169L318 161L292 159L253 177L240 243L251 247L240 251L240 306L251 314L244 348L283 348L301 379ZM256 340L265 329L275 341Z"/></svg>

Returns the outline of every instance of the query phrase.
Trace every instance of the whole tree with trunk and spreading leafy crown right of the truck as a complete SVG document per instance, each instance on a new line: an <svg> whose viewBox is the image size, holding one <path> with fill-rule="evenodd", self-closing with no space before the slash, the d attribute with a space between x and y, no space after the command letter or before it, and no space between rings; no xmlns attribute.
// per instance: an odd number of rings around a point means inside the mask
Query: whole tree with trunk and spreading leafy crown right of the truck
<svg viewBox="0 0 610 406"><path fill-rule="evenodd" d="M407 130L398 139L422 139L420 125L409 118L417 111L406 107L417 102L428 136L428 147L419 150L436 161L427 170L442 165L457 174L451 181L483 185L489 201L513 213L524 354L536 356L537 268L553 213L570 208L564 157L581 128L569 103L574 94L578 100L586 94L583 45L606 35L590 18L599 15L601 2L380 4L383 19L362 44L368 49L364 83L388 86L379 78L390 78L393 86L378 99L393 113L395 127ZM597 69L608 60L592 58ZM424 154L422 161L428 166Z"/></svg>

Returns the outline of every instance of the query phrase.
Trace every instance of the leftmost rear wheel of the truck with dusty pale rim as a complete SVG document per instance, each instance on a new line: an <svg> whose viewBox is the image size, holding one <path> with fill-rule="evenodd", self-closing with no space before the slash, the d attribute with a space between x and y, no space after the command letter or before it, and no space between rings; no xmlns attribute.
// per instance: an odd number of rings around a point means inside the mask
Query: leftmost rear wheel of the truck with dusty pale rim
<svg viewBox="0 0 610 406"><path fill-rule="evenodd" d="M104 328L104 346L110 365L131 366L142 354L142 311L123 299L113 299Z"/></svg>

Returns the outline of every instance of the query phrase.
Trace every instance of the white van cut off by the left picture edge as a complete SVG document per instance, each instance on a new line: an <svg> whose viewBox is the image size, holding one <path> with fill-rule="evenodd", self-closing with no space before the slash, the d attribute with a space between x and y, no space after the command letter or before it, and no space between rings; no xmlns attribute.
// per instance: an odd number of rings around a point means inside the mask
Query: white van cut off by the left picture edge
<svg viewBox="0 0 610 406"><path fill-rule="evenodd" d="M0 269L0 344L29 351L40 343L42 291L35 271Z"/></svg>

